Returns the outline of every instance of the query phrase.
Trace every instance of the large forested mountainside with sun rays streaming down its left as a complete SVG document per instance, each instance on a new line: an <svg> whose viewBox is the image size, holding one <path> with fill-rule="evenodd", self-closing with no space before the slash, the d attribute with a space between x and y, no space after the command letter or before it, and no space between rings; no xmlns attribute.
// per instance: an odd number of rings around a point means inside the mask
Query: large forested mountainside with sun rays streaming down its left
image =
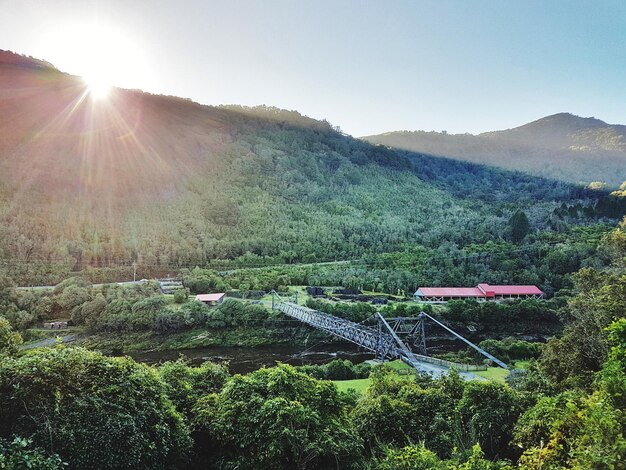
<svg viewBox="0 0 626 470"><path fill-rule="evenodd" d="M0 267L21 282L464 246L502 240L517 209L534 229L562 228L601 197L372 145L295 111L121 89L93 100L45 62L0 59Z"/></svg>

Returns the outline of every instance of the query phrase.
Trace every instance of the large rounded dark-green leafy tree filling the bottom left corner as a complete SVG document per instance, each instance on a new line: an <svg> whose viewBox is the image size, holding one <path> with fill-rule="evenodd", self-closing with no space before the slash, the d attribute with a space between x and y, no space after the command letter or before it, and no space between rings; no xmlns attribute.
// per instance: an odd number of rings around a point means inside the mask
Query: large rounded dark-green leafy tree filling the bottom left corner
<svg viewBox="0 0 626 470"><path fill-rule="evenodd" d="M0 437L28 436L71 468L157 469L191 441L158 373L82 348L0 361Z"/></svg>

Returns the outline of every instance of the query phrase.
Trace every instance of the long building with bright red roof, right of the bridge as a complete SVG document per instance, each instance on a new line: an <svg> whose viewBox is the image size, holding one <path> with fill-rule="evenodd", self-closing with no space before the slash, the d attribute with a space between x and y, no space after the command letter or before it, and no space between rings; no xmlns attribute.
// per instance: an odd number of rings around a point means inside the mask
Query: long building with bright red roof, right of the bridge
<svg viewBox="0 0 626 470"><path fill-rule="evenodd" d="M506 299L543 299L536 286L420 287L415 300L424 303L445 303L450 300L499 301Z"/></svg>

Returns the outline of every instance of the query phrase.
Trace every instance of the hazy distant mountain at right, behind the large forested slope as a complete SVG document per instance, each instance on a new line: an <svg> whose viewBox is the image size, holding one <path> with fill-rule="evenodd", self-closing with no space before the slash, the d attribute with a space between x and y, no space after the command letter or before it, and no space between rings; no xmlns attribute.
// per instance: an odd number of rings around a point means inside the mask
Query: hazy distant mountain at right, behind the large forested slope
<svg viewBox="0 0 626 470"><path fill-rule="evenodd" d="M569 113L478 135L398 131L363 139L574 183L617 187L626 180L626 126Z"/></svg>

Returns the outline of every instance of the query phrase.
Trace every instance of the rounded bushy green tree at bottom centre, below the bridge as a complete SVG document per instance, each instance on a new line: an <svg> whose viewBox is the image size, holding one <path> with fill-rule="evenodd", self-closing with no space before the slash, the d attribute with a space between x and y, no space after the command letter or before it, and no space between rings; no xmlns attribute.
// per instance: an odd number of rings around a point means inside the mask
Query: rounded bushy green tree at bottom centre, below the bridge
<svg viewBox="0 0 626 470"><path fill-rule="evenodd" d="M350 468L360 459L336 387L291 366L236 375L194 413L197 448L238 468Z"/></svg>

